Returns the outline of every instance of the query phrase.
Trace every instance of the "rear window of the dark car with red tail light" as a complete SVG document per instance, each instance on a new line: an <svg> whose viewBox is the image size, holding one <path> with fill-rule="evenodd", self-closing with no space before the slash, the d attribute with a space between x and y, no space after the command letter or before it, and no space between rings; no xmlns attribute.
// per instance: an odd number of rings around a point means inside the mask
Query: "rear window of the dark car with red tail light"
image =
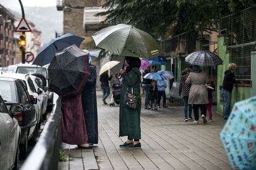
<svg viewBox="0 0 256 170"><path fill-rule="evenodd" d="M16 102L14 82L0 80L0 95L7 102Z"/></svg>

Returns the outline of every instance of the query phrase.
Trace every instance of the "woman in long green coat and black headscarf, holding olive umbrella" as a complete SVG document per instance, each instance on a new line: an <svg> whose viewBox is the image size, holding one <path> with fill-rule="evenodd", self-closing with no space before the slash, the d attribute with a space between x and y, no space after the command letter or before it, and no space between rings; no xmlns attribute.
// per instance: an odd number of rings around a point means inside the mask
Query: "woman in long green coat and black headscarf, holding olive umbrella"
<svg viewBox="0 0 256 170"><path fill-rule="evenodd" d="M124 105L124 96L128 91L130 94L140 95L140 59L136 57L126 57L126 71L121 69L122 89L121 103L119 110L119 136L128 136L127 141L120 145L120 148L140 148L140 108L133 109Z"/></svg>

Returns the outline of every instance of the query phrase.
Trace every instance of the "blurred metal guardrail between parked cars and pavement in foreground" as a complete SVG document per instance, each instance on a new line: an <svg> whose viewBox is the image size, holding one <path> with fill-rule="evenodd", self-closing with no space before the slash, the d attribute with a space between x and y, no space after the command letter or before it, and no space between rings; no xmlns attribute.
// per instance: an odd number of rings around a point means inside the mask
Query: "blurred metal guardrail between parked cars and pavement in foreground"
<svg viewBox="0 0 256 170"><path fill-rule="evenodd" d="M45 129L21 170L58 169L59 148L61 146L61 99L54 105Z"/></svg>

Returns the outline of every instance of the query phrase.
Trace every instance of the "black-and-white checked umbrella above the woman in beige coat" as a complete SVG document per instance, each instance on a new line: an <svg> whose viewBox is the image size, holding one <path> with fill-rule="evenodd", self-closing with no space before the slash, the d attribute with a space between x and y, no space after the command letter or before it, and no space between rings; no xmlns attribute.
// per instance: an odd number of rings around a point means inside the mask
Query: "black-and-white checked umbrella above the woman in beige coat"
<svg viewBox="0 0 256 170"><path fill-rule="evenodd" d="M222 65L222 60L218 55L205 50L192 52L191 54L187 55L185 62L203 67L215 67L216 65Z"/></svg>

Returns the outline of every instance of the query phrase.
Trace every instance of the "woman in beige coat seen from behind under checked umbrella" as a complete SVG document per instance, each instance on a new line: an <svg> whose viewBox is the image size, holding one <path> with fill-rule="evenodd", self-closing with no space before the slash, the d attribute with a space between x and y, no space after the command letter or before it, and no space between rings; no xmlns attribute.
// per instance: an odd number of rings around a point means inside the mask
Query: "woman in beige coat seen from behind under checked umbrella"
<svg viewBox="0 0 256 170"><path fill-rule="evenodd" d="M186 84L192 84L189 92L189 104L193 105L193 111L195 116L194 123L198 123L198 112L199 108L201 110L201 116L203 123L207 123L206 114L208 103L208 92L205 84L209 82L208 76L203 72L198 65L192 66L192 72L190 72L189 77L185 81Z"/></svg>

